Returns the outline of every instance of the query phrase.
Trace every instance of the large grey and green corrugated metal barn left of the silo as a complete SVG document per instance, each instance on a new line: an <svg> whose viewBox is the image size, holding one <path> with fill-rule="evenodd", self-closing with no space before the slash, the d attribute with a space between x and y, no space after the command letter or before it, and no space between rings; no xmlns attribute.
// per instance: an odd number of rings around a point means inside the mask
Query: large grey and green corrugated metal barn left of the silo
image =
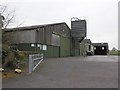
<svg viewBox="0 0 120 90"><path fill-rule="evenodd" d="M19 50L43 53L44 57L70 56L71 31L66 23L11 28L7 33Z"/></svg>

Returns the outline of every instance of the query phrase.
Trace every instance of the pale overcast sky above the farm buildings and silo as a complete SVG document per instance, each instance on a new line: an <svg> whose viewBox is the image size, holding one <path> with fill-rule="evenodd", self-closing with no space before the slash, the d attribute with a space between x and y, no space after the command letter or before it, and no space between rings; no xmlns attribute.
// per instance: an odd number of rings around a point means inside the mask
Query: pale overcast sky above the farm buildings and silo
<svg viewBox="0 0 120 90"><path fill-rule="evenodd" d="M93 43L108 42L118 48L119 0L0 0L16 11L16 25L66 22L78 17L87 20L87 38Z"/></svg>

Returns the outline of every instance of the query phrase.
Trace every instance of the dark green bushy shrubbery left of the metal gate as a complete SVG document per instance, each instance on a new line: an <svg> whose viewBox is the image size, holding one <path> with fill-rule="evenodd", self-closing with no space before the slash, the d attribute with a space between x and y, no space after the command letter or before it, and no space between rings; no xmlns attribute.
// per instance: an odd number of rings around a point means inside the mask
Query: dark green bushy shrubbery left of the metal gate
<svg viewBox="0 0 120 90"><path fill-rule="evenodd" d="M15 69L17 67L24 67L28 54L24 51L19 51L17 48L3 45L2 48L2 67L8 69Z"/></svg>

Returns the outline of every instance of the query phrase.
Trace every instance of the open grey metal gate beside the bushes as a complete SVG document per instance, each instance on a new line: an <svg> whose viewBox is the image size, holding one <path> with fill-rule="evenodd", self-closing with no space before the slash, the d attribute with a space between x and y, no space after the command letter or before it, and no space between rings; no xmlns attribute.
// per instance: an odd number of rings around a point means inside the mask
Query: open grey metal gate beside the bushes
<svg viewBox="0 0 120 90"><path fill-rule="evenodd" d="M29 73L32 73L42 61L43 61L43 54L29 55Z"/></svg>

